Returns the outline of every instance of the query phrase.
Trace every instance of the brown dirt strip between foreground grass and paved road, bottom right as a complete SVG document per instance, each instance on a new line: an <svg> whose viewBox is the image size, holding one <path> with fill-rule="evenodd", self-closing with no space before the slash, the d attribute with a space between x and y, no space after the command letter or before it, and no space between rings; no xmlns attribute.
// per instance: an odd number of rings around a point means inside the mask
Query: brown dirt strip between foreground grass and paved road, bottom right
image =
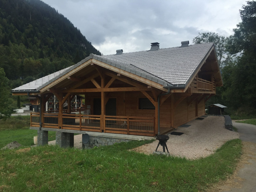
<svg viewBox="0 0 256 192"><path fill-rule="evenodd" d="M240 160L236 165L236 170L234 171L233 175L230 175L227 180L220 181L217 184L212 185L209 187L207 192L221 192L221 191L228 191L231 188L242 188L242 182L244 179L238 177L238 171L244 167L245 164L250 164L248 159L256 159L255 158L255 151L253 148L256 148L255 143L243 141L243 149L242 155Z"/></svg>

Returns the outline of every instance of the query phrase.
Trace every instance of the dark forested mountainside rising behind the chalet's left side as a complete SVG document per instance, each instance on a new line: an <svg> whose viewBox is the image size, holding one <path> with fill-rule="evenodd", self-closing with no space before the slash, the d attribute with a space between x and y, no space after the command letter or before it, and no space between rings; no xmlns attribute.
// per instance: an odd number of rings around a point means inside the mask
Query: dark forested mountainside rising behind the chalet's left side
<svg viewBox="0 0 256 192"><path fill-rule="evenodd" d="M79 29L40 0L0 0L0 68L12 87L101 55Z"/></svg>

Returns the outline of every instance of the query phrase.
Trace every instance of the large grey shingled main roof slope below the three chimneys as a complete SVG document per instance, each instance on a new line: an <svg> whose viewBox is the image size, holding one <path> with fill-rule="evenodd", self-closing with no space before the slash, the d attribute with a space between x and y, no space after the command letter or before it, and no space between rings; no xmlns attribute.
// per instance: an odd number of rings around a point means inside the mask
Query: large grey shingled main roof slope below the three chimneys
<svg viewBox="0 0 256 192"><path fill-rule="evenodd" d="M100 56L131 64L171 84L187 85L213 43Z"/></svg>

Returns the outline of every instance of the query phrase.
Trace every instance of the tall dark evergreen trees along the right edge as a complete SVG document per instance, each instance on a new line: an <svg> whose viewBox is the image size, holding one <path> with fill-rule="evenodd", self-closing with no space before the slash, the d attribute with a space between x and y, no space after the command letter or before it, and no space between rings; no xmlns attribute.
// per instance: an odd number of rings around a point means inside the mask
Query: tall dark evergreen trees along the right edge
<svg viewBox="0 0 256 192"><path fill-rule="evenodd" d="M237 95L240 106L256 109L256 2L248 1L239 11L242 22L227 44L228 51L239 57L230 76L232 87L224 94Z"/></svg>

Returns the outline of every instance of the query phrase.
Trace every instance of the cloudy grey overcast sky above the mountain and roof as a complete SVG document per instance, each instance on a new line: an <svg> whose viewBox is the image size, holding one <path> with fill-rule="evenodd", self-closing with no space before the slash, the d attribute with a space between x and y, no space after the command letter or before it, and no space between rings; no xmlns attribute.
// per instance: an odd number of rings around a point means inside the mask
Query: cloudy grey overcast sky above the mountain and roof
<svg viewBox="0 0 256 192"><path fill-rule="evenodd" d="M202 32L233 35L245 0L43 0L104 55L180 46Z"/></svg>

